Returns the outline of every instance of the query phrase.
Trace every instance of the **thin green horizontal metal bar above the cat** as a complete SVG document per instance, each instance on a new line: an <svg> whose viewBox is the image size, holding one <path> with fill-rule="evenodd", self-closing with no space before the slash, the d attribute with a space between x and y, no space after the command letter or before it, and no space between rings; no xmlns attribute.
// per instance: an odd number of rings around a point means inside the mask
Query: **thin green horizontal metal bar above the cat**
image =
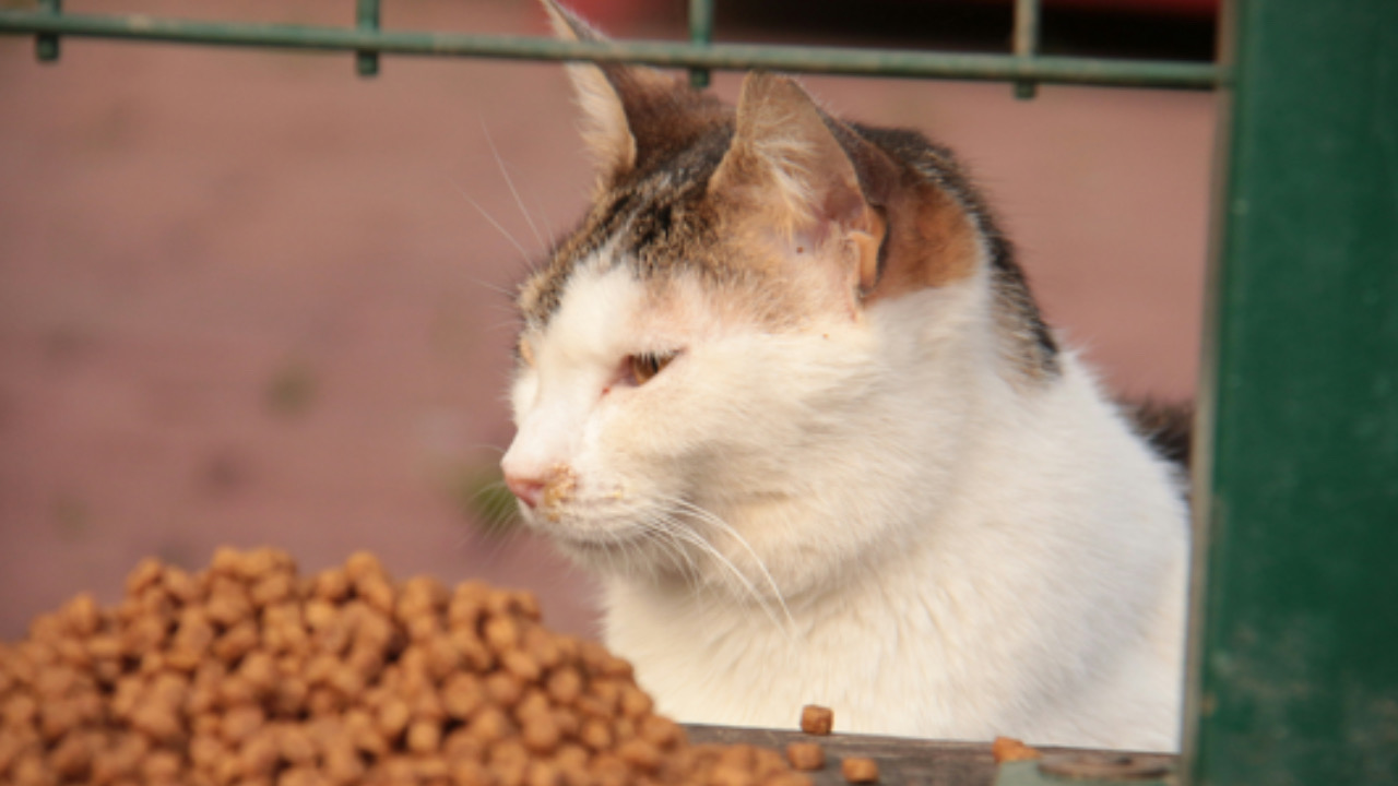
<svg viewBox="0 0 1398 786"><path fill-rule="evenodd" d="M744 43L693 46L691 43L656 41L579 42L506 35L201 22L148 15L64 15L56 18L32 11L0 11L0 34L62 34L70 36L178 43L270 46L278 49L365 50L391 55L531 60L629 62L665 67L720 70L769 69L774 71L818 71L871 77L942 77L991 81L1032 80L1057 84L1181 90L1213 90L1226 78L1225 71L1213 63L942 55L830 46Z"/></svg>

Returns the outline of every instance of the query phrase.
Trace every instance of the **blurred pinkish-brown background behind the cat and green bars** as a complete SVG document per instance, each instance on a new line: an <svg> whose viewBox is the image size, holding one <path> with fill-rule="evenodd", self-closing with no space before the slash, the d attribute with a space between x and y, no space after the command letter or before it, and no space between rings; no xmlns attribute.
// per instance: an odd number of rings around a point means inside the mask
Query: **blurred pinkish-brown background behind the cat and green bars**
<svg viewBox="0 0 1398 786"><path fill-rule="evenodd" d="M21 0L4 0L17 4ZM719 3L717 38L1004 50L1008 1ZM348 0L69 0L352 24ZM681 38L682 3L593 0ZM853 11L851 11L853 8ZM850 18L858 13L857 18ZM1208 57L1208 0L1067 0L1046 48ZM533 0L390 0L384 25L541 35ZM510 292L584 206L556 64L0 38L0 639L144 555L270 544L303 569L524 586L594 634L547 544L482 527L512 427ZM738 76L720 74L720 95ZM1206 94L811 77L837 113L956 148L1053 324L1114 389L1192 394ZM519 192L523 211L506 178ZM527 215L526 215L527 213ZM487 495L488 498L488 495Z"/></svg>

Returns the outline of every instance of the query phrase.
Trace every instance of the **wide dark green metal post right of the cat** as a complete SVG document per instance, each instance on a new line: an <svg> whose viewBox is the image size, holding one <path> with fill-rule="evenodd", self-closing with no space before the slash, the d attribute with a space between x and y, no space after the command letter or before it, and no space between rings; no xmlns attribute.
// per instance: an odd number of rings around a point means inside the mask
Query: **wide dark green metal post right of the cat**
<svg viewBox="0 0 1398 786"><path fill-rule="evenodd" d="M1398 1L1223 42L1184 769L1398 783Z"/></svg>

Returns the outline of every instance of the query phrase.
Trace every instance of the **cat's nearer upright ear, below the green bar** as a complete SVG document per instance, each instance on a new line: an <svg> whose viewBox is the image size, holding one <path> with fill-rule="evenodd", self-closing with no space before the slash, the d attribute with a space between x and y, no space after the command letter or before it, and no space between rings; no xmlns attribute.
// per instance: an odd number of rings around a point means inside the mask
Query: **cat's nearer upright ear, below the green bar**
<svg viewBox="0 0 1398 786"><path fill-rule="evenodd" d="M889 169L886 157L821 112L797 83L756 71L742 83L733 143L709 189L801 245L839 235L857 255L851 277L868 291L886 225L865 189L882 190Z"/></svg>

